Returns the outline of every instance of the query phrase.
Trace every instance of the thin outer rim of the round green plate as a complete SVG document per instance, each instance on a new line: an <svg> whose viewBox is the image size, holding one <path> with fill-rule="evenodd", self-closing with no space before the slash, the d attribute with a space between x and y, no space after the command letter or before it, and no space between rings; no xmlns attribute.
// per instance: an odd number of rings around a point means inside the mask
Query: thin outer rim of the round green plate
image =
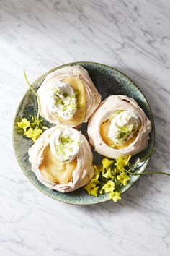
<svg viewBox="0 0 170 256"><path fill-rule="evenodd" d="M57 67L54 67L53 69L48 70L48 71L45 72L44 74L47 74L47 75L48 75L48 74L50 74L51 72L53 72L53 71L55 71L55 70L61 69L62 67L66 67L66 66L69 66L69 65L70 65L70 66L75 66L75 65L81 65L81 64L97 64L97 65L102 66L102 67L107 67L107 68L109 68L109 69L113 69L113 70L119 72L120 74L122 74L124 77L128 78L128 80L130 80L130 82L132 82L133 85L135 85L135 87L138 88L138 90L140 91L140 93L141 93L141 94L143 95L143 97L145 98L146 103L148 104L149 110L150 110L150 112L151 112L152 123L153 123L153 126L152 126L152 130L153 130L153 145L152 145L152 150L153 150L154 145L155 145L155 122L154 122L154 118L153 118L153 113L152 113L152 110L151 110L151 106L150 106L150 104L148 103L148 100L147 100L147 98L146 98L146 95L144 95L144 93L142 92L142 90L140 90L140 88L138 87L138 85L136 85L136 83L135 83L132 79L130 79L130 77L128 77L126 74L124 74L123 72L121 72L121 71L118 70L118 69L115 69L115 67L111 67L111 66L109 66L109 65L107 65L107 64L102 64L102 63L95 62L95 61L75 61L75 62L69 62L69 63L66 63L66 64L59 65L59 66L57 66ZM40 75L40 77L42 77L44 74ZM37 82L37 80L40 80L40 77L38 77L34 82L32 82L32 85L33 85L35 82ZM16 150L15 145L14 145L14 125L15 125L15 121L16 121L16 119L17 119L17 113L18 113L18 111L19 111L19 107L20 107L22 101L24 100L25 95L26 95L29 91L30 91L30 89L28 88L28 89L26 90L26 92L24 93L24 95L22 96L21 100L19 101L19 105L18 105L18 107L17 107L17 110L14 112L14 118L13 118L13 121L12 121L12 146L13 146L13 149L14 149L15 158L17 159L17 163L18 163L19 168L20 168L21 170L22 170L22 166L20 165L19 160L18 160L18 158L17 158L17 150ZM151 157L152 157L152 155L150 155L150 156L147 158L147 160L146 160L146 162L145 162L145 166L144 166L144 168L143 168L143 171L146 170L146 168L147 168L147 166L148 166L148 163L149 163L150 160L151 160ZM140 173L143 173L143 171L141 171ZM48 192L46 193L45 191L43 191L42 189L40 189L39 187L37 187L35 184L33 184L32 179L30 179L30 177L27 176L26 172L24 172L24 171L22 170L22 173L24 174L24 176L26 176L26 178L29 180L29 182L30 182L36 189L38 189L38 190L39 190L40 192L42 192L44 195L46 195L46 196L48 196L48 197L50 197L50 198L52 198L53 200L56 200L56 201L58 201L58 202L64 202L64 203L66 203L66 204L68 204L68 205L97 205L97 204L99 204L99 203L107 202L107 201L110 200L109 198L107 198L107 199L101 200L100 202L91 202L91 203L82 203L82 202L81 202L81 203L79 203L79 202L76 203L76 202L68 202L68 201L66 202L66 201L64 201L64 200L60 200L60 199L55 198L55 197L53 197L53 196L51 196L51 195L48 195ZM140 175L136 175L136 177L137 177L137 179L136 179L135 181L133 181L132 184L130 184L130 187L133 187L133 184L135 184L135 182L138 182L138 179L140 178ZM128 187L128 186L127 186L127 187ZM126 191L128 191L128 189L130 189L130 187L128 187L127 189L125 189L125 191L123 191L121 194L123 194L123 193L125 193ZM92 197L92 196L91 196L91 197Z"/></svg>

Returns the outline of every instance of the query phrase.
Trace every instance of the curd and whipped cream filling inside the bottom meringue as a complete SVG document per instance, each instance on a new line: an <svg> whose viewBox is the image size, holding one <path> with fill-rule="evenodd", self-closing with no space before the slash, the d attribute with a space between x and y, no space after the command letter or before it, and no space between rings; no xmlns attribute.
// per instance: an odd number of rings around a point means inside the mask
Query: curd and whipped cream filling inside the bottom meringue
<svg viewBox="0 0 170 256"><path fill-rule="evenodd" d="M66 184L73 179L80 148L80 132L66 126L56 127L43 151L40 171L46 179Z"/></svg>

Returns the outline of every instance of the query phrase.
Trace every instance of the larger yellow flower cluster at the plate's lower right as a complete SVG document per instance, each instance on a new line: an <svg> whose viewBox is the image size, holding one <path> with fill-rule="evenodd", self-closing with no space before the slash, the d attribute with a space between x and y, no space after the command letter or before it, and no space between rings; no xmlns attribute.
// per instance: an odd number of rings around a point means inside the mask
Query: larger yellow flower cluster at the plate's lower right
<svg viewBox="0 0 170 256"><path fill-rule="evenodd" d="M99 194L109 193L109 199L114 202L120 200L120 189L127 186L130 176L125 170L129 165L130 156L109 160L104 158L102 165L94 166L94 177L84 187L89 195L97 197Z"/></svg>

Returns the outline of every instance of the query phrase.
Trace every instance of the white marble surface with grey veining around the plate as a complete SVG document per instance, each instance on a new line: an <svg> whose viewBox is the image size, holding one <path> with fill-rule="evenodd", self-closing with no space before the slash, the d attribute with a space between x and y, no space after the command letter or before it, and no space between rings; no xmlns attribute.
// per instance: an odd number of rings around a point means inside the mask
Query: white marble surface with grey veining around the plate
<svg viewBox="0 0 170 256"><path fill-rule="evenodd" d="M170 172L169 0L0 0L0 255L166 256L170 178L147 175L117 204L66 205L42 195L12 149L15 110L30 81L70 61L120 69L156 121L148 170Z"/></svg>

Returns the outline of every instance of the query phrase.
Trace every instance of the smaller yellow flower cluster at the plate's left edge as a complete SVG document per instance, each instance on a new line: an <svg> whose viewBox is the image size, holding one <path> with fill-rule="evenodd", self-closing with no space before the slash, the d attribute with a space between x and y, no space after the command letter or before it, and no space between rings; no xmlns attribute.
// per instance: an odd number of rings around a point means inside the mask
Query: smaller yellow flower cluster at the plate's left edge
<svg viewBox="0 0 170 256"><path fill-rule="evenodd" d="M43 119L38 119L36 116L31 116L31 121L22 118L17 122L17 126L23 129L24 136L30 138L33 142L42 135L42 129L48 129L43 126Z"/></svg>

